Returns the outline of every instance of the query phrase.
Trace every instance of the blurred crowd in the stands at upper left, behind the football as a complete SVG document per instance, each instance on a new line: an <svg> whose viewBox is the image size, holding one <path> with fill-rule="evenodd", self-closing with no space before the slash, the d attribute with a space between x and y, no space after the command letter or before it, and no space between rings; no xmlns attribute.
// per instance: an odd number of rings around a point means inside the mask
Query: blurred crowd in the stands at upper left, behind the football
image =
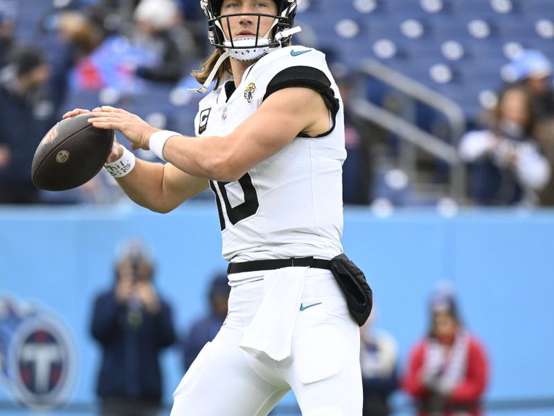
<svg viewBox="0 0 554 416"><path fill-rule="evenodd" d="M147 87L186 78L207 43L196 8L188 0L1 0L0 203L121 198L103 171L75 190L39 191L30 179L35 149L70 95L103 93L105 103L123 106Z"/></svg>

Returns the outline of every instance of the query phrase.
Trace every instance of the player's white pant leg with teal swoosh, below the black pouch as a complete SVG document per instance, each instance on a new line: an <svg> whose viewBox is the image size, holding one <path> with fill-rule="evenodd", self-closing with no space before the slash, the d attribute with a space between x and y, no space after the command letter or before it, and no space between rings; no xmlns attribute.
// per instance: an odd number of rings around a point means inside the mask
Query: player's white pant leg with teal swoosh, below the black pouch
<svg viewBox="0 0 554 416"><path fill-rule="evenodd" d="M302 304L286 372L302 415L361 416L359 327L330 272L306 279Z"/></svg>

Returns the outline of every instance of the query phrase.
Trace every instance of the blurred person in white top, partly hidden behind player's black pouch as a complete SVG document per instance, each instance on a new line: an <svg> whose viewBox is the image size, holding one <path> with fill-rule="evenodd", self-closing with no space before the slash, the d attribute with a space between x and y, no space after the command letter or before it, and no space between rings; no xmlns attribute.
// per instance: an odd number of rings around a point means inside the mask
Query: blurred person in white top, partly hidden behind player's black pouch
<svg viewBox="0 0 554 416"><path fill-rule="evenodd" d="M389 396L398 388L397 346L394 338L374 328L375 305L360 328L361 383L364 387L362 416L388 416Z"/></svg>

